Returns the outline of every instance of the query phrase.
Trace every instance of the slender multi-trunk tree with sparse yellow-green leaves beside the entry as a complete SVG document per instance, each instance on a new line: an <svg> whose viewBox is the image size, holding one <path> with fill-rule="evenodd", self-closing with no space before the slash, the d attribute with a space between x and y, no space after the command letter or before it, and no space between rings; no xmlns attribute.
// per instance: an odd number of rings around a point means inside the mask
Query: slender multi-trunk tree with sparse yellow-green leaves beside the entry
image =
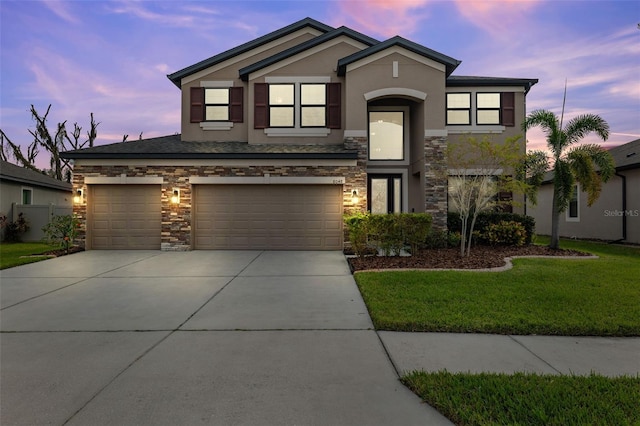
<svg viewBox="0 0 640 426"><path fill-rule="evenodd" d="M526 193L529 186L518 179L524 160L520 136L498 144L489 137L481 140L466 136L447 146L449 205L460 214L462 232L460 255L471 250L471 240L478 214L514 200L500 201L499 192Z"/></svg>

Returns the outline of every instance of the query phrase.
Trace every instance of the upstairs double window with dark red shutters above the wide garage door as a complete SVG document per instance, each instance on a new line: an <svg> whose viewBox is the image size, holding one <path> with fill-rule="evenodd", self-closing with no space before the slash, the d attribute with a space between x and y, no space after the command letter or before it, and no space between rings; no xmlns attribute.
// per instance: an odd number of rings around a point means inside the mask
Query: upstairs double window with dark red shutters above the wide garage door
<svg viewBox="0 0 640 426"><path fill-rule="evenodd" d="M292 78L291 83L282 80L255 83L254 128L267 129L269 135L315 136L341 127L340 83L309 82L305 78Z"/></svg>

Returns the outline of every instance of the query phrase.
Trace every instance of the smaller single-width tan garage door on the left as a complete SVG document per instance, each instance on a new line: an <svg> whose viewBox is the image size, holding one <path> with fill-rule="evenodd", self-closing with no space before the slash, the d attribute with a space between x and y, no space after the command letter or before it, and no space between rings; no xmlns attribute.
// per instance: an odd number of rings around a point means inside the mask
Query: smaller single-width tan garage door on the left
<svg viewBox="0 0 640 426"><path fill-rule="evenodd" d="M160 185L91 185L88 235L91 249L160 249Z"/></svg>

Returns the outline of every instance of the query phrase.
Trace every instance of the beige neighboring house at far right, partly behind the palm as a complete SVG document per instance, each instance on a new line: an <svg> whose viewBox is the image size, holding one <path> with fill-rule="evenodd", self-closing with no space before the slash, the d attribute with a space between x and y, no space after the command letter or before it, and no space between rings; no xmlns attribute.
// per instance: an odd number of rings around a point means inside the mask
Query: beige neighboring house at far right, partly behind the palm
<svg viewBox="0 0 640 426"><path fill-rule="evenodd" d="M600 198L591 207L587 196L574 188L569 208L560 216L560 236L640 244L640 139L609 150L616 173L602 186ZM527 214L536 220L536 232L551 234L553 175L549 174L538 192L536 206Z"/></svg>

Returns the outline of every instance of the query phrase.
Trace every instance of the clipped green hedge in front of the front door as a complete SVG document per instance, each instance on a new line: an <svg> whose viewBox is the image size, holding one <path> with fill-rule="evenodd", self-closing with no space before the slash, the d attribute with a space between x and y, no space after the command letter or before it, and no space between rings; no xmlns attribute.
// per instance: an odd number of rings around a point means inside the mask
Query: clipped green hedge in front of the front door
<svg viewBox="0 0 640 426"><path fill-rule="evenodd" d="M432 218L427 213L368 214L345 216L349 241L356 255L362 257L369 247L385 256L399 255L405 246L417 253L431 229Z"/></svg>

